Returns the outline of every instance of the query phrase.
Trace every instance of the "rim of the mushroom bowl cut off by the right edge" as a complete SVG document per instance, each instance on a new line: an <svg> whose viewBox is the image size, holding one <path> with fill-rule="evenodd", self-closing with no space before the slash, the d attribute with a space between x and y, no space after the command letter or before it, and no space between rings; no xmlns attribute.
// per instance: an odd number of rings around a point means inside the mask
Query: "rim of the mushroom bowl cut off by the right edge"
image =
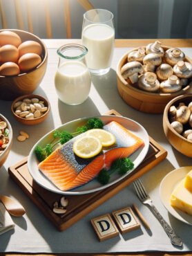
<svg viewBox="0 0 192 256"><path fill-rule="evenodd" d="M166 107L164 108L164 119L166 122L166 125L169 127L169 129L173 132L173 134L175 134L176 136L178 136L179 138L181 138L182 140L186 141L186 143L189 143L189 145L192 145L192 141L187 140L186 138L184 138L184 136L180 135L177 133L177 131L175 131L175 129L173 129L173 127L171 127L171 123L169 122L169 118L168 118L168 111L169 108L173 105L173 103L177 102L177 100L182 100L184 98L190 98L191 97L191 101L192 101L192 93L189 94L185 94L185 95L180 95L177 96L176 98L173 98L172 100L170 100L167 104ZM192 129L192 128L191 128Z"/></svg>

